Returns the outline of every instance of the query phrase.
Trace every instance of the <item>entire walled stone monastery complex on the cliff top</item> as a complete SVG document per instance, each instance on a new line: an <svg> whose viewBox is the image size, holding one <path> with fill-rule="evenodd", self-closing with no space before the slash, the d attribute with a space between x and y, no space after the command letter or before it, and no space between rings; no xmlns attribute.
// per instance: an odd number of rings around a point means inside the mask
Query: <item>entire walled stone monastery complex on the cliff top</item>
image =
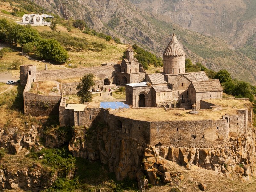
<svg viewBox="0 0 256 192"><path fill-rule="evenodd" d="M25 114L59 114L60 126L85 129L102 121L118 134L149 145L212 148L224 144L230 132L248 132L252 126L249 100L222 98L219 80L209 79L204 71L185 73L185 53L174 34L163 60L162 73L147 74L129 45L121 64L58 70L46 67L41 71L33 65L22 65ZM130 107L108 110L99 103L66 105L63 95L76 94L78 82L60 84L59 95L30 92L32 82L80 78L85 73L96 77L92 92L125 85L126 104Z"/></svg>

